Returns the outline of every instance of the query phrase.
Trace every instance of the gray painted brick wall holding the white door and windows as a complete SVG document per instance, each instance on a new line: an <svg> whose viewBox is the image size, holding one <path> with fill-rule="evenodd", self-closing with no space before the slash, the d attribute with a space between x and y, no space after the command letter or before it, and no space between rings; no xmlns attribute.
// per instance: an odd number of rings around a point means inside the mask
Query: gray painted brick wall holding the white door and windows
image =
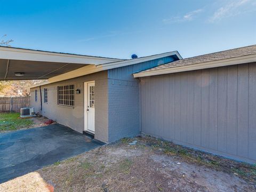
<svg viewBox="0 0 256 192"><path fill-rule="evenodd" d="M101 141L108 141L108 106L107 106L107 71L101 71L82 77L68 79L66 81L56 82L41 86L42 97L44 88L48 89L48 102L42 106L40 111L39 87L31 89L31 107L35 108L35 112L41 113L43 116L53 119L62 125L66 125L71 129L83 132L84 131L84 82L95 81L95 135ZM80 94L75 94L75 106L58 105L57 86L60 85L75 85L75 90L80 89ZM97 88L98 87L98 88ZM38 90L38 101L35 102L35 89Z"/></svg>

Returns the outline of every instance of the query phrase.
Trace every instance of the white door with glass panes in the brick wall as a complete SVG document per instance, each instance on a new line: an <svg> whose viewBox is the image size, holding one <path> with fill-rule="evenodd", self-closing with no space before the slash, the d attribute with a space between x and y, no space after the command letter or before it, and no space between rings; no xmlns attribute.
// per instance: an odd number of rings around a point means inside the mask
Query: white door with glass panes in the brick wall
<svg viewBox="0 0 256 192"><path fill-rule="evenodd" d="M94 105L95 105L95 82L88 82L85 83L84 85L84 99L85 99L85 116L87 116L87 118L85 117L85 130L90 131L90 132L94 132L95 131L95 109L94 109ZM86 94L86 90L87 90L87 94ZM86 102L87 101L87 102ZM87 121L86 121L87 120Z"/></svg>

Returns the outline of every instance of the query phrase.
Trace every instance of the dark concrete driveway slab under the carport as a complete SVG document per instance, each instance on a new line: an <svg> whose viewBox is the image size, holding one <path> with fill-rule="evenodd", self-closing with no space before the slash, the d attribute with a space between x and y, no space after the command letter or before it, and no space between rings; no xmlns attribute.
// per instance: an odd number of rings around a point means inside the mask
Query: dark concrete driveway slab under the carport
<svg viewBox="0 0 256 192"><path fill-rule="evenodd" d="M0 183L102 144L60 124L1 133Z"/></svg>

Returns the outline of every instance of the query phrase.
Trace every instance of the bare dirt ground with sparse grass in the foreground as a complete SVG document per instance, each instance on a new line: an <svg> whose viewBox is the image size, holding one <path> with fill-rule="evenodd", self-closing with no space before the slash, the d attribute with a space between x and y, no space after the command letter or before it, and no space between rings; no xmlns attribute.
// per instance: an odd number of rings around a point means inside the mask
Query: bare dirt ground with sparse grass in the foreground
<svg viewBox="0 0 256 192"><path fill-rule="evenodd" d="M132 141L138 142L130 145ZM31 177L31 174L34 176ZM104 192L256 191L256 166L188 149L172 142L137 137L122 139L66 161L56 162L0 185L0 191L28 189Z"/></svg>

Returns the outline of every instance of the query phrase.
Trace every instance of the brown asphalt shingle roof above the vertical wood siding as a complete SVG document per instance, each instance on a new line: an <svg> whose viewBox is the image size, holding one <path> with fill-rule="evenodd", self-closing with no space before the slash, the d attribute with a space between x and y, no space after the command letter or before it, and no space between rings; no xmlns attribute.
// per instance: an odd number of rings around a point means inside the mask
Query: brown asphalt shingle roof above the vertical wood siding
<svg viewBox="0 0 256 192"><path fill-rule="evenodd" d="M245 46L245 47L240 47L240 48L231 49L227 51L210 53L210 54L204 54L204 55L199 55L191 58L185 58L185 59L173 61L170 63L166 63L164 65L157 66L151 69L147 69L147 70L141 71L140 73L143 73L146 71L155 71L155 70L168 69L173 67L193 65L193 64L208 62L208 61L217 61L222 59L236 58L236 57L241 57L241 56L251 55L251 54L256 54L256 45Z"/></svg>

